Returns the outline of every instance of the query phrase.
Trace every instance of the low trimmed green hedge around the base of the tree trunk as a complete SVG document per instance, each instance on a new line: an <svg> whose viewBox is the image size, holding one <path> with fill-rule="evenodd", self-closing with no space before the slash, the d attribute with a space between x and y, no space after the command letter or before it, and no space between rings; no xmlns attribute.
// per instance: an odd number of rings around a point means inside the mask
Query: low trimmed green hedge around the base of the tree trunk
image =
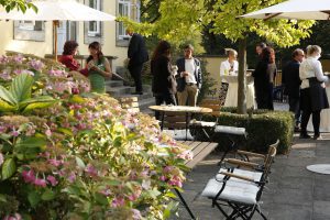
<svg viewBox="0 0 330 220"><path fill-rule="evenodd" d="M216 121L215 117L204 117L204 121ZM221 108L218 124L242 127L246 129L248 141L235 138L241 148L253 152L264 153L268 145L279 139L277 153L288 153L294 135L294 114L289 111L266 111L253 110L249 114L238 114L235 108ZM211 130L207 131L212 141L219 143L220 150L224 150L230 141L226 134L215 134ZM191 129L196 140L206 141L207 138L200 130Z"/></svg>

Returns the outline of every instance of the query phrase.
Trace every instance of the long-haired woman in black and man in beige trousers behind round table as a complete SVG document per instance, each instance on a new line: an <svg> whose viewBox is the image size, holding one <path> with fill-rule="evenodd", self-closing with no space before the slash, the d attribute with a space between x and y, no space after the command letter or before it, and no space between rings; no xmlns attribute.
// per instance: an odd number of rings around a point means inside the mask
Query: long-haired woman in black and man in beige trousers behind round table
<svg viewBox="0 0 330 220"><path fill-rule="evenodd" d="M167 41L158 43L151 59L152 91L156 105L196 106L202 78L200 62L193 53L193 45L186 45L184 57L178 58L176 66L173 66L170 44Z"/></svg>

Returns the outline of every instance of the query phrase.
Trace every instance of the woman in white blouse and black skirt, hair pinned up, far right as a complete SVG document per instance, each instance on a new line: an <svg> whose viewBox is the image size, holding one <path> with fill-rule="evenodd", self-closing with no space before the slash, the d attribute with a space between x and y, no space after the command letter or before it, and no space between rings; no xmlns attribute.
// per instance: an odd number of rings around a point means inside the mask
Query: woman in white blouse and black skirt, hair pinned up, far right
<svg viewBox="0 0 330 220"><path fill-rule="evenodd" d="M320 113L329 108L324 82L329 77L323 75L322 65L318 61L321 56L321 47L318 45L307 46L307 58L300 64L300 108L301 131L300 139L310 139L307 133L307 124L312 114L314 139L320 139Z"/></svg>

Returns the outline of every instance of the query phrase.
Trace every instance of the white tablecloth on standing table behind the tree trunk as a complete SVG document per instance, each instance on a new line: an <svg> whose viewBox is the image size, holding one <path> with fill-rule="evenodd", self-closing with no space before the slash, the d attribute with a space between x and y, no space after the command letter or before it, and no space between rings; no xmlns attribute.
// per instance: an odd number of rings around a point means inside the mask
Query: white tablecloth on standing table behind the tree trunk
<svg viewBox="0 0 330 220"><path fill-rule="evenodd" d="M237 107L238 106L238 76L221 76L223 82L228 82L228 91L226 96L224 107ZM255 108L254 102L254 81L253 77L246 77L246 107Z"/></svg>

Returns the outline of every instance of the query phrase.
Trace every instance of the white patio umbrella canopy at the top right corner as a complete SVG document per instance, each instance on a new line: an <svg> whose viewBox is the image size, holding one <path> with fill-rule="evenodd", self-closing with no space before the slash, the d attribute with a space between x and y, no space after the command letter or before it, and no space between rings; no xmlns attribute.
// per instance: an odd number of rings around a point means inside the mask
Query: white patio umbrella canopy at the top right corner
<svg viewBox="0 0 330 220"><path fill-rule="evenodd" d="M250 19L329 20L330 0L289 0L242 15Z"/></svg>

